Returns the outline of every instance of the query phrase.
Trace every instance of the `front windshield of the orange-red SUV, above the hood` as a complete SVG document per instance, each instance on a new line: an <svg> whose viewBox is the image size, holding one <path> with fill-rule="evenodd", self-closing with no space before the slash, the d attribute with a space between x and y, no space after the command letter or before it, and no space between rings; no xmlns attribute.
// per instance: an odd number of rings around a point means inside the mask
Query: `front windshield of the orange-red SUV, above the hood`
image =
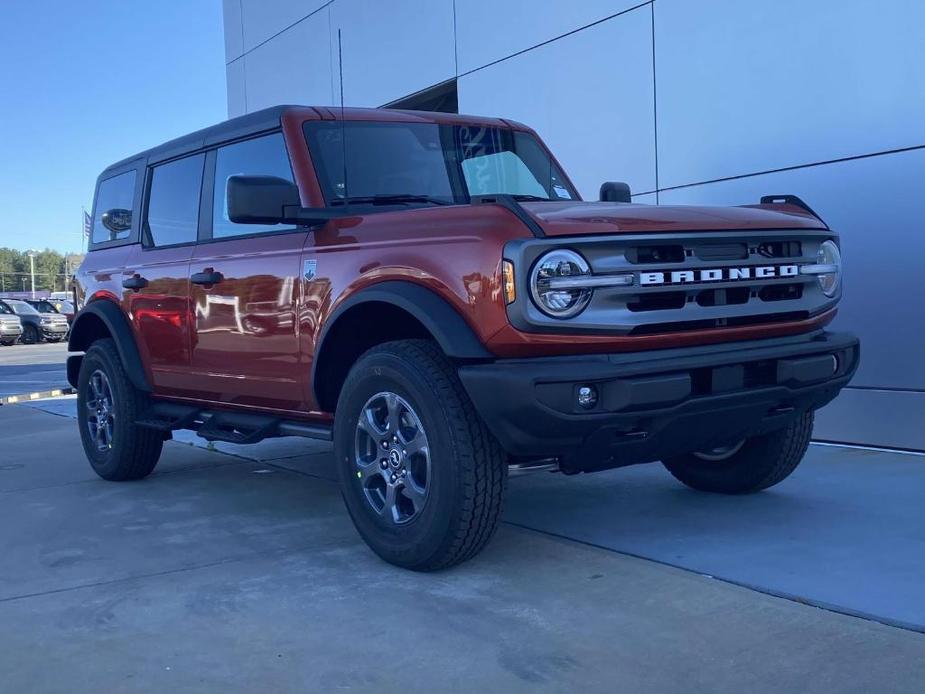
<svg viewBox="0 0 925 694"><path fill-rule="evenodd" d="M328 205L578 199L537 139L510 128L312 121L305 136Z"/></svg>

